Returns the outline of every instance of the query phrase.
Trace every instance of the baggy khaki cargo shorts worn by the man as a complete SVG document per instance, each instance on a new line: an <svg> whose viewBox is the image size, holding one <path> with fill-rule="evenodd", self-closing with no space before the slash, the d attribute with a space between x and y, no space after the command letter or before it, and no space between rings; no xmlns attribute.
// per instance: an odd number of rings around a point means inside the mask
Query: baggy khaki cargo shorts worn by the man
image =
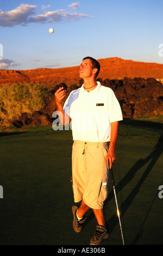
<svg viewBox="0 0 163 256"><path fill-rule="evenodd" d="M108 196L109 167L107 143L74 141L72 146L72 187L74 202L84 200L92 209L102 209Z"/></svg>

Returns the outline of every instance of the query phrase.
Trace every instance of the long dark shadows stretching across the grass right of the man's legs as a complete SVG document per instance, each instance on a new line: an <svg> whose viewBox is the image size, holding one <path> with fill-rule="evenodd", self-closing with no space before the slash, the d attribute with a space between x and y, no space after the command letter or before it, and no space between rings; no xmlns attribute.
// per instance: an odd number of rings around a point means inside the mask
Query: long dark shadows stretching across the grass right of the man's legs
<svg viewBox="0 0 163 256"><path fill-rule="evenodd" d="M137 185L133 188L133 190L130 192L129 196L126 198L126 200L124 200L124 202L120 206L121 216L123 216L125 214L125 212L129 208L130 204L133 202L134 198L136 197L136 194L139 193L141 185L143 184L143 182L147 178L149 172L151 172L152 168L154 167L154 164L156 163L156 161L159 159L160 155L162 154L162 149L163 149L162 146L163 146L163 135L160 137L158 143L155 145L152 153L149 154L145 159L138 160L134 164L134 166L128 171L128 173L123 177L123 179L116 185L115 190L116 190L116 193L118 193L131 181L131 179L134 178L135 173L139 169L141 169L143 166L145 166L146 163L149 162L149 164L148 164L145 172L142 174L139 182L137 182ZM114 197L114 193L110 192L108 195L108 199L106 199L106 201L105 201L105 204L108 203L112 197ZM153 200L153 202L154 202L154 200ZM152 202L152 204L153 204L153 202ZM151 209L151 207L152 207L152 205L150 206L150 209ZM147 218L147 215L145 217L145 220L146 220L146 218ZM145 222L145 220L143 221L143 223ZM112 232L112 230L114 230L117 223L118 223L118 217L117 217L117 214L115 213L114 215L112 215L112 217L106 223L109 227L110 233ZM142 224L142 226L143 226L143 224ZM142 235L142 231L143 231L142 226L139 230L139 233L136 235L134 241L132 242L132 244L135 244L140 239L140 237Z"/></svg>

